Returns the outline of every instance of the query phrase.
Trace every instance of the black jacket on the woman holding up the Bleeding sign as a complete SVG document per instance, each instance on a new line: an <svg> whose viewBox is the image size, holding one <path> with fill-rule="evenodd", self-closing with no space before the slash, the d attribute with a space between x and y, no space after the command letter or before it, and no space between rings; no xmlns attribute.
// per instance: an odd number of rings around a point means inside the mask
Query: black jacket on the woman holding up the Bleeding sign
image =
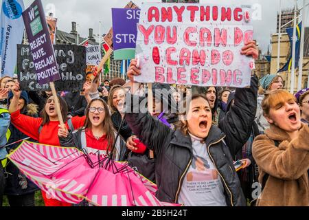
<svg viewBox="0 0 309 220"><path fill-rule="evenodd" d="M222 120L222 124L220 123L224 133L218 127L211 126L205 139L209 156L222 178L229 206L246 206L232 158L250 135L251 129L248 127L251 127L255 117L257 96L258 78L253 76L251 88L236 90L235 104L225 120ZM126 100L126 103L129 101ZM130 109L133 113L127 113L126 121L141 142L157 155L157 197L161 201L177 203L183 178L192 163L191 138L179 130L171 131L148 113L134 113L139 112L138 108L133 106L133 109Z"/></svg>

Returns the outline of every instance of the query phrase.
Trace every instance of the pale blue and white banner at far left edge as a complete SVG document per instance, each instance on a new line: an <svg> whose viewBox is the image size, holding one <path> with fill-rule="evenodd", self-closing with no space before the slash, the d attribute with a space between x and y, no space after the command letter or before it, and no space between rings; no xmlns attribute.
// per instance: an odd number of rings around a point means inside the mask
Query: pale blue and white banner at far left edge
<svg viewBox="0 0 309 220"><path fill-rule="evenodd" d="M0 12L0 76L13 77L17 60L17 44L23 40L24 10L22 0L2 0Z"/></svg>

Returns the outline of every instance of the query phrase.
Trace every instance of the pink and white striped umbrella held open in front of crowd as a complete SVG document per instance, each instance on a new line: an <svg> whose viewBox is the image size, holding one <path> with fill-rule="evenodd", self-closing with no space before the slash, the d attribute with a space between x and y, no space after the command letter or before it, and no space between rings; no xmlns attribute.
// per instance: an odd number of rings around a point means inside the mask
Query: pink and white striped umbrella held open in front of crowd
<svg viewBox="0 0 309 220"><path fill-rule="evenodd" d="M95 206L178 206L155 197L157 186L125 162L77 148L23 142L8 158L49 197ZM95 165L95 166L93 166Z"/></svg>

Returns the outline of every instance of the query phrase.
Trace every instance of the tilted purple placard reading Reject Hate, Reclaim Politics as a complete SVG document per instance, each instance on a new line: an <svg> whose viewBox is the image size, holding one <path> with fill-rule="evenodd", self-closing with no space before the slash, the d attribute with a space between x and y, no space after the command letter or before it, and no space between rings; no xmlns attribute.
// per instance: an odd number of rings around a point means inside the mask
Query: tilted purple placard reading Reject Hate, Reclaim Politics
<svg viewBox="0 0 309 220"><path fill-rule="evenodd" d="M23 22L25 23L38 83L43 85L60 80L41 0L34 1L23 12Z"/></svg>

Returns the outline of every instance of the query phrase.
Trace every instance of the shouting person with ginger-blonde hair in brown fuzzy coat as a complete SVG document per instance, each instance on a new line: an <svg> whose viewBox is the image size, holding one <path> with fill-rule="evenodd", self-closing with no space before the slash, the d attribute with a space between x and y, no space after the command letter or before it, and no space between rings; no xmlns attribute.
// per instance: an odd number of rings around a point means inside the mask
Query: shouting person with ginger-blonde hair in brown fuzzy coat
<svg viewBox="0 0 309 220"><path fill-rule="evenodd" d="M301 123L295 97L271 91L262 109L271 126L253 142L263 188L257 206L309 206L309 127Z"/></svg>

